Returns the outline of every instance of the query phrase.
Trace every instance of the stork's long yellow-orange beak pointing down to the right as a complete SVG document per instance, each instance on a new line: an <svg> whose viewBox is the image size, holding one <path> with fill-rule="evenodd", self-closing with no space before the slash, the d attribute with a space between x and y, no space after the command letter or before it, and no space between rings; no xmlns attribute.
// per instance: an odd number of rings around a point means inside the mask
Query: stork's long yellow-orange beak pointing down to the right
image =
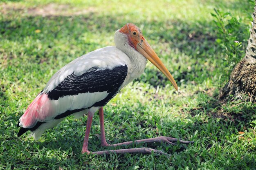
<svg viewBox="0 0 256 170"><path fill-rule="evenodd" d="M173 84L176 91L178 91L178 86L171 75L171 73L168 71L168 69L164 66L163 62L160 60L160 58L157 56L155 51L151 48L151 46L148 44L145 38L143 38L143 42L137 44L137 50L144 56L146 59L148 59L152 64L154 64L164 75L170 80L171 84Z"/></svg>

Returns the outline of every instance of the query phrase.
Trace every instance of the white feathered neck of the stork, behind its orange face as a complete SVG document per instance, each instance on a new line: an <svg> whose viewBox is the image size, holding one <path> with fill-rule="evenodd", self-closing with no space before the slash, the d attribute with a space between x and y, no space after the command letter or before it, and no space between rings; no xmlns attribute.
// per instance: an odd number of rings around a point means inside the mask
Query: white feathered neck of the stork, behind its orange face
<svg viewBox="0 0 256 170"><path fill-rule="evenodd" d="M130 58L130 76L132 79L139 77L143 72L147 64L147 59L141 55L137 50L130 46L128 38L125 34L120 33L119 30L115 32L114 36L116 47L123 51Z"/></svg>

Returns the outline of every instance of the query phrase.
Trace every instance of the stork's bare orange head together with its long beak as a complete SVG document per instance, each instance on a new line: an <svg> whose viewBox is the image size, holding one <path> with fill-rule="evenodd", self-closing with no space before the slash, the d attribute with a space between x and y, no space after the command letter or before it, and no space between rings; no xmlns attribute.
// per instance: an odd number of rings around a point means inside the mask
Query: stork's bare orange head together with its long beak
<svg viewBox="0 0 256 170"><path fill-rule="evenodd" d="M152 64L154 64L164 75L170 80L174 88L178 90L178 86L173 79L173 76L164 66L163 62L157 56L155 51L148 44L146 39L141 33L141 30L132 23L125 24L120 30L120 33L123 33L127 36L129 45L132 46L135 50L139 51L146 59L148 59Z"/></svg>

